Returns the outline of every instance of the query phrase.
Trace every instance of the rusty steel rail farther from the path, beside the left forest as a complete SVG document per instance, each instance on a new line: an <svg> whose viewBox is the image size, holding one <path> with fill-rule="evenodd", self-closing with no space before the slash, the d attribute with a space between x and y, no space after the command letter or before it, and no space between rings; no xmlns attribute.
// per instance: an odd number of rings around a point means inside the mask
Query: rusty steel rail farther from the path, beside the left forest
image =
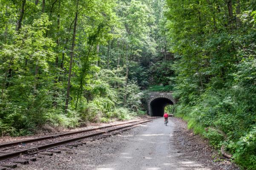
<svg viewBox="0 0 256 170"><path fill-rule="evenodd" d="M155 119L155 118L150 118L150 119ZM47 140L47 139L54 139L54 138L58 138L58 137L62 137L62 136L70 136L70 135L75 135L78 133L84 133L84 132L89 132L89 131L93 131L93 130L105 129L108 127L115 127L115 126L126 125L126 124L134 123L134 122L141 122L144 120L145 119L116 124L116 125L109 125L109 126L97 127L97 128L92 128L92 129L86 129L86 130L78 130L78 131L74 131L74 132L59 133L59 134L55 134L55 135L43 136L43 137L34 138L34 139L19 140L19 141L15 141L15 142L9 142L6 144L0 144L0 148L14 146L14 145L18 145L18 144L28 144L28 143L32 143L32 142ZM146 120L148 120L148 119L146 119Z"/></svg>

